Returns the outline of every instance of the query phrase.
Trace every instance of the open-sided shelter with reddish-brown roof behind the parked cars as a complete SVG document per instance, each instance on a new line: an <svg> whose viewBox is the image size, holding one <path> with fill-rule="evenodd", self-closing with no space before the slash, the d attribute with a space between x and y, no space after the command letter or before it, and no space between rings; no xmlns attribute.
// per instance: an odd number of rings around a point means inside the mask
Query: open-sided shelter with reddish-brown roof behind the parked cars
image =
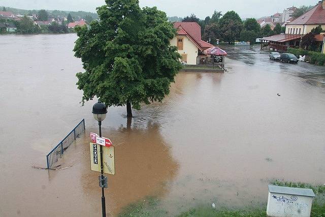
<svg viewBox="0 0 325 217"><path fill-rule="evenodd" d="M269 50L273 49L274 51L286 51L289 47L299 46L303 36L304 35L279 34L265 37L261 39L261 50L263 50L264 47L269 47ZM266 46L263 46L265 44Z"/></svg>

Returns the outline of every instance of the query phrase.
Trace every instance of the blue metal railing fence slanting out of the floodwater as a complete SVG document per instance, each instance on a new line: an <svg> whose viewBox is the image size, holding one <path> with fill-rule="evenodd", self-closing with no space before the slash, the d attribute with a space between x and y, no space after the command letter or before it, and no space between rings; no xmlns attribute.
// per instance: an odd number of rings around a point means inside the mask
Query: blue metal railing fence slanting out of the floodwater
<svg viewBox="0 0 325 217"><path fill-rule="evenodd" d="M76 138L85 131L85 119L82 119L80 123L78 123L77 127L75 127L69 134L66 136L66 138L62 139L62 141L59 142L53 150L51 150L50 153L46 156L46 162L47 162L47 168L50 169L59 158L62 157L64 151L66 151L70 145L73 143L73 141L76 140Z"/></svg>

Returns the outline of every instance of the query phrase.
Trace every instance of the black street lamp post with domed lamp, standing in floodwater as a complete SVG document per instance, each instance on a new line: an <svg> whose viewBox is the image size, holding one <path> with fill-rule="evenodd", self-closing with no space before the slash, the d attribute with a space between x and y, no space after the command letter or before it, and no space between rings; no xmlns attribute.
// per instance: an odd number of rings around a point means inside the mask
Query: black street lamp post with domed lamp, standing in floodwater
<svg viewBox="0 0 325 217"><path fill-rule="evenodd" d="M95 103L92 107L92 114L95 120L98 121L99 129L100 129L100 137L102 137L102 121L106 118L106 114L107 114L106 105L98 101L98 103ZM103 217L106 217L104 188L105 186L107 187L107 178L104 177L102 145L100 145L100 154L101 154L101 175L99 179L100 179L100 187L102 187L102 213L103 213Z"/></svg>

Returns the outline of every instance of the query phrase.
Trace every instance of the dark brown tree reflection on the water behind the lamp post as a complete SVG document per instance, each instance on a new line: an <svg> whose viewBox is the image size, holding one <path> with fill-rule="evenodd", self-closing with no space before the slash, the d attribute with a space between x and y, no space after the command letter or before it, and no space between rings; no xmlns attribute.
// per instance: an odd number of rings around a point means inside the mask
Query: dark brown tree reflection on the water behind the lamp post
<svg viewBox="0 0 325 217"><path fill-rule="evenodd" d="M109 175L109 188L106 191L110 212L116 213L121 207L147 195L161 197L169 192L170 181L174 180L178 165L160 135L159 125L148 122L144 129L136 126L130 129L105 129L103 136L106 135L115 144L116 175ZM86 152L85 161L82 162L83 175L80 177L82 188L85 195L99 201L98 173L89 171L87 144L88 137L82 144Z"/></svg>

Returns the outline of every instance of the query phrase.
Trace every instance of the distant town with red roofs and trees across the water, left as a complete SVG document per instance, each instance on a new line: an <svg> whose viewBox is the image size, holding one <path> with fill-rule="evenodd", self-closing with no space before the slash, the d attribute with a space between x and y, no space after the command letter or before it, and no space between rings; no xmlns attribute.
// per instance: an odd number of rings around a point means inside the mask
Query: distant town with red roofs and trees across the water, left
<svg viewBox="0 0 325 217"><path fill-rule="evenodd" d="M69 33L74 32L76 26L88 26L94 19L98 19L98 15L90 12L27 11L3 7L0 11L0 33Z"/></svg>

